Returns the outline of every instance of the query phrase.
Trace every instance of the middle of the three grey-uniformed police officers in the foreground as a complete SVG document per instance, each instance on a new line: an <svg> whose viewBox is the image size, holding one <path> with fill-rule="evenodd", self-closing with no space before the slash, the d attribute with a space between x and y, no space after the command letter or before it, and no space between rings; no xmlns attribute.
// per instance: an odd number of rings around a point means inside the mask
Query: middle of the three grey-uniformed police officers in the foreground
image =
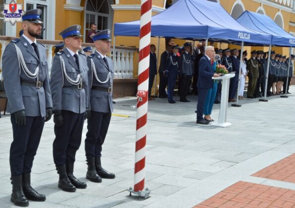
<svg viewBox="0 0 295 208"><path fill-rule="evenodd" d="M53 157L59 173L59 188L74 192L86 188L74 175L75 155L81 144L84 119L88 110L88 66L81 49L80 25L72 25L59 35L64 50L53 60L51 92L56 138Z"/></svg>

